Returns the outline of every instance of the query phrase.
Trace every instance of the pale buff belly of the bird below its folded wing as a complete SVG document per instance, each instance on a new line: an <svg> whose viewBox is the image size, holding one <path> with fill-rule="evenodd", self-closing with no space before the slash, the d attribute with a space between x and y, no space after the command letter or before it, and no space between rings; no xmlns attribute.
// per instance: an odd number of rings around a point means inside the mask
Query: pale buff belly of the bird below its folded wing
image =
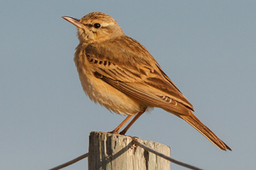
<svg viewBox="0 0 256 170"><path fill-rule="evenodd" d="M116 90L92 73L79 72L81 86L88 97L117 114L135 114L147 108L143 102Z"/></svg>

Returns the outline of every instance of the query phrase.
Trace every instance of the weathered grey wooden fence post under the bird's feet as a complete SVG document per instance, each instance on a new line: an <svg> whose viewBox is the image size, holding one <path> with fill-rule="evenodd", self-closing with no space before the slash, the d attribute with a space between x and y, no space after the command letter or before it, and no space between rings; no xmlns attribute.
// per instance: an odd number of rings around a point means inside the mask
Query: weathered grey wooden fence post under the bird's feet
<svg viewBox="0 0 256 170"><path fill-rule="evenodd" d="M89 137L88 170L170 170L170 162L120 134L92 131ZM138 138L147 147L170 156L171 149L154 141Z"/></svg>

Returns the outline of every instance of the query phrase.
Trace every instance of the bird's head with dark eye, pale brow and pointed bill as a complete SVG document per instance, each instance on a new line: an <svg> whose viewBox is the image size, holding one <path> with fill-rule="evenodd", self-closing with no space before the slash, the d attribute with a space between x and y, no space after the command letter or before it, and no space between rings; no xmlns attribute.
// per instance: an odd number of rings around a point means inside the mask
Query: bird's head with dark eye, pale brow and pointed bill
<svg viewBox="0 0 256 170"><path fill-rule="evenodd" d="M102 42L106 39L124 35L116 20L103 12L92 12L81 19L74 19L68 16L63 16L62 18L78 28L80 42Z"/></svg>

